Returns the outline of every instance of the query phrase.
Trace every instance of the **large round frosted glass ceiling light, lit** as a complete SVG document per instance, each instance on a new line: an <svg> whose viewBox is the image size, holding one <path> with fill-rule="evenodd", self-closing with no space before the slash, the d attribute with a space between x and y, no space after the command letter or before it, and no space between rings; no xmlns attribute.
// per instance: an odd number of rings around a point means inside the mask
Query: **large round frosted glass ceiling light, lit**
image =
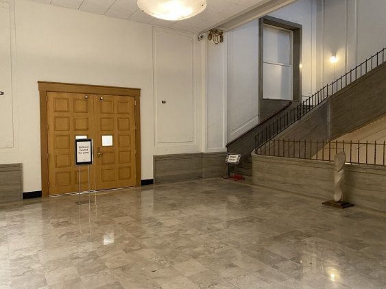
<svg viewBox="0 0 386 289"><path fill-rule="evenodd" d="M206 0L138 0L136 3L150 16L173 21L193 17L206 8Z"/></svg>

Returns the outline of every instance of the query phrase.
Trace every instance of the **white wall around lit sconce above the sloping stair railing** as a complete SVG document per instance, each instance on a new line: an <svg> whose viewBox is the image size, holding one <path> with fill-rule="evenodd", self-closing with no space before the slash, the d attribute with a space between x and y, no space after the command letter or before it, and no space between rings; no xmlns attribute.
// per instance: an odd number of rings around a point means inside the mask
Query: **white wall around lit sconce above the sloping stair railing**
<svg viewBox="0 0 386 289"><path fill-rule="evenodd" d="M323 0L318 3L317 31L322 34L317 55L323 84L335 79L386 47L383 37L386 26L386 1L383 0ZM369 62L370 63L370 62ZM364 66L363 66L364 67Z"/></svg>

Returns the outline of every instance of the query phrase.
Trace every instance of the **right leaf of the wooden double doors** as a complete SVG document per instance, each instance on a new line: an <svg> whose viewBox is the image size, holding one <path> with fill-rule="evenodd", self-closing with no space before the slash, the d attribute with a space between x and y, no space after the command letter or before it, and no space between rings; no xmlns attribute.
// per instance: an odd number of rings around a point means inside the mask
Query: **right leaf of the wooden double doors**
<svg viewBox="0 0 386 289"><path fill-rule="evenodd" d="M135 186L134 98L95 97L95 183L97 190Z"/></svg>

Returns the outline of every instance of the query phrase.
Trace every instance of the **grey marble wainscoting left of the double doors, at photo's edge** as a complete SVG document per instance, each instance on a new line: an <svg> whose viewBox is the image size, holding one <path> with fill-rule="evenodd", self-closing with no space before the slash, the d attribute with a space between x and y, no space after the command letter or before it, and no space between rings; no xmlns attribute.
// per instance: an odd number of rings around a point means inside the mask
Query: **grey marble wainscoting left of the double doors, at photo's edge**
<svg viewBox="0 0 386 289"><path fill-rule="evenodd" d="M0 203L23 199L21 164L0 164Z"/></svg>

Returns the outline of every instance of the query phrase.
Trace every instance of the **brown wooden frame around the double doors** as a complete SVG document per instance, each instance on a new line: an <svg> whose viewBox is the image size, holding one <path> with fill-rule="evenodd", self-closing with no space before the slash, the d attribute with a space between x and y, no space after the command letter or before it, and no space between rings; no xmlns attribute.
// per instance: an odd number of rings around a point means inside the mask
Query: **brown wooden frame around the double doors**
<svg viewBox="0 0 386 289"><path fill-rule="evenodd" d="M89 93L93 95L120 95L134 97L135 105L135 149L136 149L136 186L141 186L141 88L117 86L94 86L90 84L66 84L60 82L38 81L40 100L40 158L42 197L49 197L48 186L48 135L47 135L47 92Z"/></svg>

